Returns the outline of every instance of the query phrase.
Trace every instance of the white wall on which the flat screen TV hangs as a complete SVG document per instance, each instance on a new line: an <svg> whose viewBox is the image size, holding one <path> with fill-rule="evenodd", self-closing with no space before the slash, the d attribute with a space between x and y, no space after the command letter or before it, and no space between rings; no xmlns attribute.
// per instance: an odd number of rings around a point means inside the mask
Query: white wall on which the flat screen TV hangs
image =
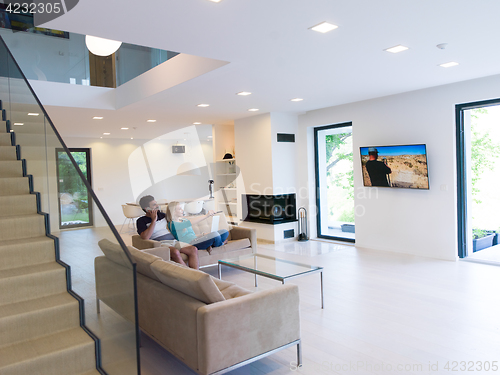
<svg viewBox="0 0 500 375"><path fill-rule="evenodd" d="M309 194L299 204L314 212L313 127L352 121L356 245L456 259L455 105L499 97L497 75L300 116L299 186ZM359 147L407 143L427 144L430 190L364 188ZM315 215L309 225L315 235Z"/></svg>

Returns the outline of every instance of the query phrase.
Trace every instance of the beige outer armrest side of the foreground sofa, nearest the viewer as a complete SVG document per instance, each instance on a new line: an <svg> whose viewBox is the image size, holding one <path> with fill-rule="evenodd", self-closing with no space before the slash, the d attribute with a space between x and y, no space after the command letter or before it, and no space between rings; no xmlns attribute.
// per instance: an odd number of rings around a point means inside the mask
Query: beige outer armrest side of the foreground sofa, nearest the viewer
<svg viewBox="0 0 500 375"><path fill-rule="evenodd" d="M300 339L297 285L202 306L197 312L198 365L212 372Z"/></svg>

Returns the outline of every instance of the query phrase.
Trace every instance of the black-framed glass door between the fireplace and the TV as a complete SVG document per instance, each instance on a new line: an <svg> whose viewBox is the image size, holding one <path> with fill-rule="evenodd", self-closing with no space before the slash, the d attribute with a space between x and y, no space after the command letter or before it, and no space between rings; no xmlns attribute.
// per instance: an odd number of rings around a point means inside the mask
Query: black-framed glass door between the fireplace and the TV
<svg viewBox="0 0 500 375"><path fill-rule="evenodd" d="M352 123L316 128L318 237L354 242Z"/></svg>

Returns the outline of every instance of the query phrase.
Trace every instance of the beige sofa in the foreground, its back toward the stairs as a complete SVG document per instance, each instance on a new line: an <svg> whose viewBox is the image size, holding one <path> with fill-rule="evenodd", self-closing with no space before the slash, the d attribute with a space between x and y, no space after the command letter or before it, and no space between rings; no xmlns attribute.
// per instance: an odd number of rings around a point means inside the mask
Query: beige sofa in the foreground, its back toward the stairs
<svg viewBox="0 0 500 375"><path fill-rule="evenodd" d="M130 262L119 245L99 246L105 256L95 259L98 300L127 317L130 288L114 280L130 273ZM168 248L128 249L137 264L140 329L197 373L222 374L292 345L301 362L296 285L250 292L169 261Z"/></svg>

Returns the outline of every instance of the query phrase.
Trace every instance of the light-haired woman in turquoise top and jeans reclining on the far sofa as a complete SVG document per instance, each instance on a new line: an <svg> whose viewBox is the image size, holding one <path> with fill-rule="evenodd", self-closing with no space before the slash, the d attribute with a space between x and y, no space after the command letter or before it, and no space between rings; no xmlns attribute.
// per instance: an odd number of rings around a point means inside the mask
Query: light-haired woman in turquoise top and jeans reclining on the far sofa
<svg viewBox="0 0 500 375"><path fill-rule="evenodd" d="M192 224L198 223L213 215L213 211L208 211L206 215L186 220L182 218L184 216L182 203L170 202L167 210L167 226L177 241L187 242L190 245L196 246L198 250L207 250L210 253L212 247L219 247L227 242L229 232L225 229L220 229L217 232L196 235Z"/></svg>

